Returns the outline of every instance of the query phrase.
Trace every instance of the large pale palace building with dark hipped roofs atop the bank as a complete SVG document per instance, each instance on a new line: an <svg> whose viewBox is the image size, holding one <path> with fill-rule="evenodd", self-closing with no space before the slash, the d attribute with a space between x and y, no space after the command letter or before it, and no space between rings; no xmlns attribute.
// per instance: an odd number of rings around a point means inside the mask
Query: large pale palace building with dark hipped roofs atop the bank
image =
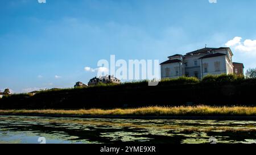
<svg viewBox="0 0 256 155"><path fill-rule="evenodd" d="M233 53L228 47L203 48L186 53L176 54L168 57L167 61L160 64L161 78L197 77L203 78L208 74L233 74L234 64L241 67L235 68L237 73L243 73L241 63L232 62Z"/></svg>

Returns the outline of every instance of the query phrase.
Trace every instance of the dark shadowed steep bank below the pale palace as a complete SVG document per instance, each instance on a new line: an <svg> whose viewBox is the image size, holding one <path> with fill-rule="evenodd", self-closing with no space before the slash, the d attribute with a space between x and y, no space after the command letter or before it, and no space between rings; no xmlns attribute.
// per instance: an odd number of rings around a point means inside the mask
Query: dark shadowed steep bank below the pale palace
<svg viewBox="0 0 256 155"><path fill-rule="evenodd" d="M114 86L43 91L0 99L0 109L80 109L142 106L253 105L256 79L236 76L178 78L148 86L146 81Z"/></svg>

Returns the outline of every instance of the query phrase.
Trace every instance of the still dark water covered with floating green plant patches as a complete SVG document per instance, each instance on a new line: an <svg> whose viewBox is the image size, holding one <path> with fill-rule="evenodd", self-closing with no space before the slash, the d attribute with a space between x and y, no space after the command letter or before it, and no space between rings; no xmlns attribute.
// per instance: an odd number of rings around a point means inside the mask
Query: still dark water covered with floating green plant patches
<svg viewBox="0 0 256 155"><path fill-rule="evenodd" d="M0 116L0 143L256 143L256 121Z"/></svg>

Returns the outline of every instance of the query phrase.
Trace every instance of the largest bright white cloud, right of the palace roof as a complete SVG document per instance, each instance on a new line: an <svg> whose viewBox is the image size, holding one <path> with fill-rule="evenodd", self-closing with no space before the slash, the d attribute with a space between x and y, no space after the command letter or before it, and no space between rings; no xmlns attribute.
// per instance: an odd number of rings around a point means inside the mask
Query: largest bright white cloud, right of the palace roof
<svg viewBox="0 0 256 155"><path fill-rule="evenodd" d="M234 39L229 40L225 45L236 49L239 52L250 53L256 55L256 40L246 39L241 41L242 37L234 37Z"/></svg>

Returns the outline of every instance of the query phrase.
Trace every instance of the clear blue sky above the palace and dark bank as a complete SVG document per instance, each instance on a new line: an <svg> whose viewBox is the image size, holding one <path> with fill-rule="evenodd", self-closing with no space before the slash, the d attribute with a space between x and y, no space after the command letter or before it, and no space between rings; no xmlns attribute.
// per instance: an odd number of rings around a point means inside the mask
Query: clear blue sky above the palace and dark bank
<svg viewBox="0 0 256 155"><path fill-rule="evenodd" d="M255 68L256 1L210 2L1 0L0 89L73 87L110 55L161 62L205 44L229 45L233 61Z"/></svg>

